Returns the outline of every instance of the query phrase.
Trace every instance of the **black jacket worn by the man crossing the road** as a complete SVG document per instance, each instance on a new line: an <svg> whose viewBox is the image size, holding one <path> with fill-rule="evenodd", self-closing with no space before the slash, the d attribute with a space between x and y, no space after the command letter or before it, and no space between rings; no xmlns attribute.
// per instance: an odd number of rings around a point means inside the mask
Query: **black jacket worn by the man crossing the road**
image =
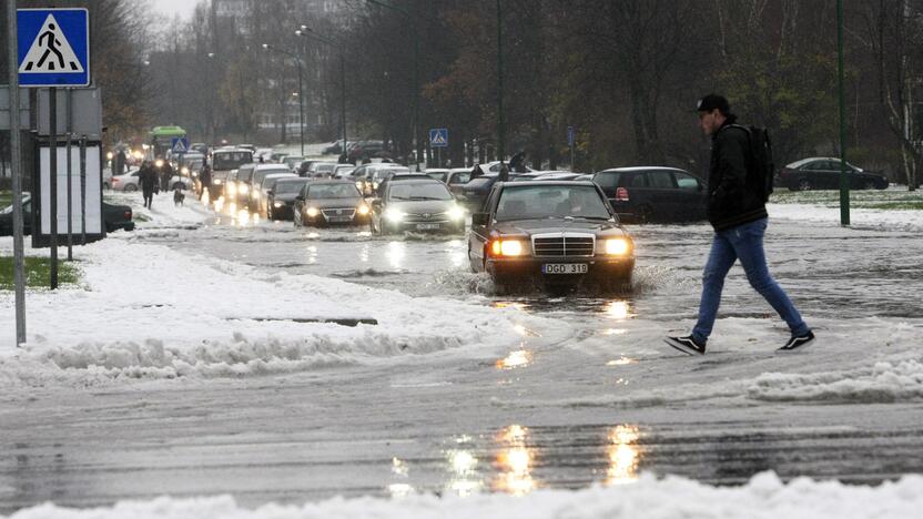
<svg viewBox="0 0 923 519"><path fill-rule="evenodd" d="M750 134L729 119L711 136L708 221L716 231L765 218L765 204L747 182Z"/></svg>

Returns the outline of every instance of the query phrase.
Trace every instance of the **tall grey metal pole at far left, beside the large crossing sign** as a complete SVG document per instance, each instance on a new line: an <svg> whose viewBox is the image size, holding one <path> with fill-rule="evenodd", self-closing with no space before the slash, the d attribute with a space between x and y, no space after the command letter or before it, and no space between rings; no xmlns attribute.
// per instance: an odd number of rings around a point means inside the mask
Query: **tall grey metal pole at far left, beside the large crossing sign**
<svg viewBox="0 0 923 519"><path fill-rule="evenodd" d="M22 244L22 157L19 120L19 71L16 0L7 0L7 59L10 84L10 175L13 187L13 284L16 285L16 345L26 343L26 275Z"/></svg>

